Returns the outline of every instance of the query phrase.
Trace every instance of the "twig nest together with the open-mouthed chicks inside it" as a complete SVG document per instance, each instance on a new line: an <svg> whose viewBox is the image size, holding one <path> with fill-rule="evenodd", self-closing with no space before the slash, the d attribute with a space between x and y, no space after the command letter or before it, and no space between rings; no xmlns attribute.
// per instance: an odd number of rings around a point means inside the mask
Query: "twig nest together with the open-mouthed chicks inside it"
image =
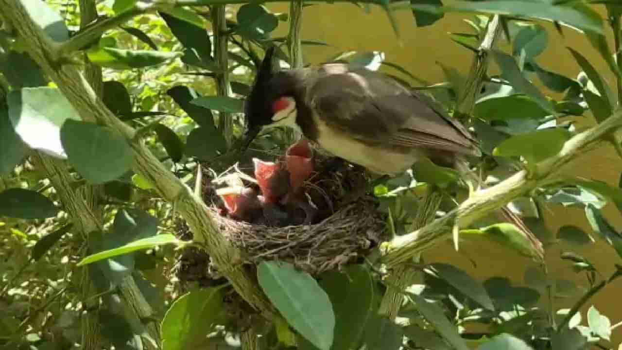
<svg viewBox="0 0 622 350"><path fill-rule="evenodd" d="M212 217L246 263L282 260L313 275L360 260L385 237L363 168L314 154L306 140L275 161L203 171Z"/></svg>

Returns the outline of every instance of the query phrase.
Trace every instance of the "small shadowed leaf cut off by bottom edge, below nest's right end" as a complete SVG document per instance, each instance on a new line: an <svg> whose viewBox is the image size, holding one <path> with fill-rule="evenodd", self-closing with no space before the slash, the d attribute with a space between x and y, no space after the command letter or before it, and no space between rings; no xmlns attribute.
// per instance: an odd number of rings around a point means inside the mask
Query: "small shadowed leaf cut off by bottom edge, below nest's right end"
<svg viewBox="0 0 622 350"><path fill-rule="evenodd" d="M363 334L368 350L398 350L402 346L404 331L391 319L374 315ZM337 349L337 348L335 348ZM353 348L341 348L343 350ZM356 349L356 348L355 348Z"/></svg>

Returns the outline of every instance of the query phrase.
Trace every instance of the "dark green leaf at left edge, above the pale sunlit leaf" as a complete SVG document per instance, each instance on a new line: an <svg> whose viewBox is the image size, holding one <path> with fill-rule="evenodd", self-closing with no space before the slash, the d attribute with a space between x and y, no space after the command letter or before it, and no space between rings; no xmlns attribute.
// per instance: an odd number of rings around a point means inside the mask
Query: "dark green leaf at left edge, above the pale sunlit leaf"
<svg viewBox="0 0 622 350"><path fill-rule="evenodd" d="M0 72L14 90L47 85L39 66L25 52L11 50L6 55L0 55Z"/></svg>

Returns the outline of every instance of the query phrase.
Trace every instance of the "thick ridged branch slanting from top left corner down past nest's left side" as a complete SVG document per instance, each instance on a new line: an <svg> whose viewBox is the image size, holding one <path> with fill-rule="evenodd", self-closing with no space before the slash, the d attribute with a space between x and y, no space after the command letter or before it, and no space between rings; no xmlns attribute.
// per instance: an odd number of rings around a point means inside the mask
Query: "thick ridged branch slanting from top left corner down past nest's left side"
<svg viewBox="0 0 622 350"><path fill-rule="evenodd" d="M63 95L72 103L80 115L92 115L101 125L109 126L127 140L134 138L135 130L116 118L98 98L83 76L72 65L63 65L56 70L49 57L49 40L35 26L32 19L16 0L0 0L0 7L12 21L19 35L24 38L30 56L42 67L52 80L57 83ZM40 44L39 44L40 43ZM258 284L241 265L240 253L225 237L218 232L215 222L208 215L208 208L202 199L195 196L190 188L174 176L162 163L139 141L131 141L134 150L133 169L154 185L154 189L169 202L176 204L177 210L186 219L195 241L202 244L215 260L219 271L223 273L236 291L254 308L271 318L276 313L271 303L265 298Z"/></svg>

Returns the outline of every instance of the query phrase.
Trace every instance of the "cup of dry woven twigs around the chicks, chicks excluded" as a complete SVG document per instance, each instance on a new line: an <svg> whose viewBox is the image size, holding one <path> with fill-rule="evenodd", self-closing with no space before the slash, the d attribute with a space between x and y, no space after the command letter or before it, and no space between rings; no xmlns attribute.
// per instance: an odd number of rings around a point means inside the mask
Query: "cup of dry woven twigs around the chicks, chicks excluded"
<svg viewBox="0 0 622 350"><path fill-rule="evenodd" d="M368 184L364 169L335 158L315 156L314 161L315 169L304 182L302 192L315 207L316 215L312 222L296 225L274 225L261 220L246 222L226 215L217 184L235 174L250 176L238 166L216 175L203 164L203 199L223 235L243 252L244 263L256 265L263 260L280 260L318 275L361 262L371 248L386 240L384 214L377 210L374 198L361 191ZM183 238L190 238L188 233L184 235ZM197 262L196 258L192 260ZM196 271L196 268L188 270ZM211 263L203 271L211 278L220 277ZM178 277L185 279L179 274ZM193 276L192 280L200 278Z"/></svg>

